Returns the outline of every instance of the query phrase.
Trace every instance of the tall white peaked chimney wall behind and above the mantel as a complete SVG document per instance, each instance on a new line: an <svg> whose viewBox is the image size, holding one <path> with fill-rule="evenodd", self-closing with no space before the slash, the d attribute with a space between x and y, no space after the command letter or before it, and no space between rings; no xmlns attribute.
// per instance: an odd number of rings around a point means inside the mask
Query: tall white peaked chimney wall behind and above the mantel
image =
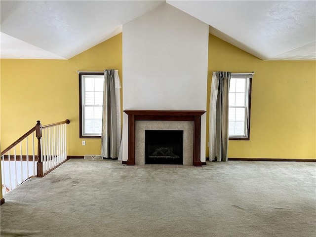
<svg viewBox="0 0 316 237"><path fill-rule="evenodd" d="M207 60L208 25L167 3L124 24L123 110L206 111ZM124 113L123 160L127 160L127 119Z"/></svg>

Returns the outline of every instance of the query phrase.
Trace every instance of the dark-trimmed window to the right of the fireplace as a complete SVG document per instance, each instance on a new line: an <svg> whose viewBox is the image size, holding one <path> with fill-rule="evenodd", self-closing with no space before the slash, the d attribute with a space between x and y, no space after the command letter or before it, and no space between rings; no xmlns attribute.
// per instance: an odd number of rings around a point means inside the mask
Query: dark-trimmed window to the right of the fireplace
<svg viewBox="0 0 316 237"><path fill-rule="evenodd" d="M229 139L249 140L252 75L232 75L229 89Z"/></svg>

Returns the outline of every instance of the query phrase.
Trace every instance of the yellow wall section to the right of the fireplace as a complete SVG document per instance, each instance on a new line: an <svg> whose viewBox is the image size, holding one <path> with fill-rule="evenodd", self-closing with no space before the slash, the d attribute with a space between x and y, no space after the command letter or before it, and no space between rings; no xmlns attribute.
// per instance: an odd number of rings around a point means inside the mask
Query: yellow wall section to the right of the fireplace
<svg viewBox="0 0 316 237"><path fill-rule="evenodd" d="M230 158L316 158L316 61L262 61L212 35L208 58L207 108L213 71L255 72L250 141Z"/></svg>

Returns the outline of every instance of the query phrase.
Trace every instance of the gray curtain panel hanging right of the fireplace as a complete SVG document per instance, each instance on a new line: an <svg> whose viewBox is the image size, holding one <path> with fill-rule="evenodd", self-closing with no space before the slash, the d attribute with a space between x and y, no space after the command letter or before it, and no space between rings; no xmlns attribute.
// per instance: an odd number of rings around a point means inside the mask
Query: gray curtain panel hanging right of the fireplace
<svg viewBox="0 0 316 237"><path fill-rule="evenodd" d="M210 100L209 160L227 161L229 85L232 73L214 72Z"/></svg>

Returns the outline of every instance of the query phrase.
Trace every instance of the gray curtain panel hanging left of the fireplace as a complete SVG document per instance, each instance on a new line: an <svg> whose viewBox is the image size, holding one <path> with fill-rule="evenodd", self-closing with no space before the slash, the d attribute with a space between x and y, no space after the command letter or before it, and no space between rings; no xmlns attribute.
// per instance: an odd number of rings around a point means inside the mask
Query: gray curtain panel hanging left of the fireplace
<svg viewBox="0 0 316 237"><path fill-rule="evenodd" d="M118 71L104 70L101 156L117 159L121 139Z"/></svg>

